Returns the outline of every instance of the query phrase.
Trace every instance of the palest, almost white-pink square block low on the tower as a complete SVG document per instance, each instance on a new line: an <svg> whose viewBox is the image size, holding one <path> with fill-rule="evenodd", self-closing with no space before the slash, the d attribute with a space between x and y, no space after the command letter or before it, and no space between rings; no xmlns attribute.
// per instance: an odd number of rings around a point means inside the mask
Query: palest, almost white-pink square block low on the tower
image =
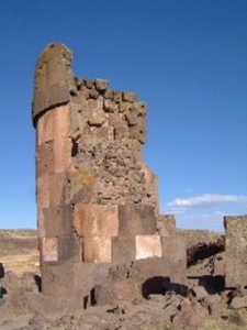
<svg viewBox="0 0 247 330"><path fill-rule="evenodd" d="M162 256L159 235L136 235L136 260Z"/></svg>

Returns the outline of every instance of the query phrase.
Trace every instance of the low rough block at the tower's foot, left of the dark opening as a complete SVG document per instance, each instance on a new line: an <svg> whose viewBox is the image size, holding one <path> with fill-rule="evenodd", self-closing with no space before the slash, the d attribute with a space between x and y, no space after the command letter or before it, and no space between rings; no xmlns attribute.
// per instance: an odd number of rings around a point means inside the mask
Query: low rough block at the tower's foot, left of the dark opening
<svg viewBox="0 0 247 330"><path fill-rule="evenodd" d="M105 282L96 287L97 305L116 305L141 298L141 285L133 279Z"/></svg>

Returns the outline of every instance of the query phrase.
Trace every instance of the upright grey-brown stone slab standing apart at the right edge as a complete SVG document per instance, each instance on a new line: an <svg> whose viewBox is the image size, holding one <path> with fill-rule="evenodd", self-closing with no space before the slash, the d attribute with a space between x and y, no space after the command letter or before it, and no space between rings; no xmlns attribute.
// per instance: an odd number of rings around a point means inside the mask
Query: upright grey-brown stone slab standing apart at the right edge
<svg viewBox="0 0 247 330"><path fill-rule="evenodd" d="M247 286L247 216L224 217L225 286Z"/></svg>

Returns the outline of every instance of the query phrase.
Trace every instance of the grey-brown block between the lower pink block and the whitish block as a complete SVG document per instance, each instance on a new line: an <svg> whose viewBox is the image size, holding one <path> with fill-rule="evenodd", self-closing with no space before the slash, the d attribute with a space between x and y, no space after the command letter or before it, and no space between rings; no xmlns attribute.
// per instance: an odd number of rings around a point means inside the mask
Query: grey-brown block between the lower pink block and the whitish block
<svg viewBox="0 0 247 330"><path fill-rule="evenodd" d="M112 262L116 264L130 263L135 260L135 237L112 238Z"/></svg>

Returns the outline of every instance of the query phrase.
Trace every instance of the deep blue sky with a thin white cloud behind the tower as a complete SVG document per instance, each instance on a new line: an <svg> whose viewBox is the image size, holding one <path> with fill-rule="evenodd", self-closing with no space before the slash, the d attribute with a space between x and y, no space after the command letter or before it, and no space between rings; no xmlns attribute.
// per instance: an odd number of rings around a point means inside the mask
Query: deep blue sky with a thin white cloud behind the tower
<svg viewBox="0 0 247 330"><path fill-rule="evenodd" d="M211 230L247 213L246 0L0 0L0 228L36 227L33 76L53 41L148 103L161 212Z"/></svg>

